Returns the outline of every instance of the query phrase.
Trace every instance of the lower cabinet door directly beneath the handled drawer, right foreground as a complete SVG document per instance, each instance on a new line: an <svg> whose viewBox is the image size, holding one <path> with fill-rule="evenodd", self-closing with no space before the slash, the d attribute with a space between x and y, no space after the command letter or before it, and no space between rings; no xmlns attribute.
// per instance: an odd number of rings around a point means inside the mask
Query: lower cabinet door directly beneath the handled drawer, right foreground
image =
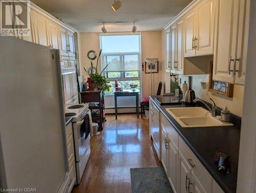
<svg viewBox="0 0 256 193"><path fill-rule="evenodd" d="M185 158L182 156L180 151L178 159L178 192L186 193L188 192L188 188L190 185L191 168L185 161Z"/></svg>

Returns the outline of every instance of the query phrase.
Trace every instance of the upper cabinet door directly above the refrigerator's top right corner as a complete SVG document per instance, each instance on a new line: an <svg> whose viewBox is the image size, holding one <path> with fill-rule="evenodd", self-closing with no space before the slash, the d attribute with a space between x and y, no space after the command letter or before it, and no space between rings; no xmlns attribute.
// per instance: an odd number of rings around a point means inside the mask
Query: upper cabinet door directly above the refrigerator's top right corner
<svg viewBox="0 0 256 193"><path fill-rule="evenodd" d="M49 42L54 49L59 49L59 27L54 22L48 22Z"/></svg>

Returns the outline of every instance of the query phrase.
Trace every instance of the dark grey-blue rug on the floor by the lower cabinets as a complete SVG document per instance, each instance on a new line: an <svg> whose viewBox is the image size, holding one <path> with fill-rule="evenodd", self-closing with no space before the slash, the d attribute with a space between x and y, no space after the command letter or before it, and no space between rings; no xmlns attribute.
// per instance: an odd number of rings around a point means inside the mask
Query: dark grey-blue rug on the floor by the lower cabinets
<svg viewBox="0 0 256 193"><path fill-rule="evenodd" d="M163 167L131 168L132 193L173 193Z"/></svg>

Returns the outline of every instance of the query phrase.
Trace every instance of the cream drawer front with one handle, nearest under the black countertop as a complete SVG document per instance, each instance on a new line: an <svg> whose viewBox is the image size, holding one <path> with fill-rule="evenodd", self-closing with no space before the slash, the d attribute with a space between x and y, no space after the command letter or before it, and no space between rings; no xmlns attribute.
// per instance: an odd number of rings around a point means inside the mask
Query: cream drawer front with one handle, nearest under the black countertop
<svg viewBox="0 0 256 193"><path fill-rule="evenodd" d="M211 192L212 178L195 154L190 150L184 140L179 136L179 151L184 156L187 163L191 166L196 177L202 184L206 192Z"/></svg>

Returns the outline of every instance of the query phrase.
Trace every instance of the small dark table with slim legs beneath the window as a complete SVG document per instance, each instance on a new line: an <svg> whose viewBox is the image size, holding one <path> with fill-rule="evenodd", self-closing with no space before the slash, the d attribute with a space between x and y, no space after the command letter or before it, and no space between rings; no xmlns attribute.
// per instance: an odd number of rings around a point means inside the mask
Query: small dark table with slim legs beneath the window
<svg viewBox="0 0 256 193"><path fill-rule="evenodd" d="M139 90L123 90L123 91L116 91L114 92L115 95L115 114L116 114L116 119L117 119L117 97L122 97L122 96L135 96L136 97L136 113L137 113L137 118L139 118Z"/></svg>

